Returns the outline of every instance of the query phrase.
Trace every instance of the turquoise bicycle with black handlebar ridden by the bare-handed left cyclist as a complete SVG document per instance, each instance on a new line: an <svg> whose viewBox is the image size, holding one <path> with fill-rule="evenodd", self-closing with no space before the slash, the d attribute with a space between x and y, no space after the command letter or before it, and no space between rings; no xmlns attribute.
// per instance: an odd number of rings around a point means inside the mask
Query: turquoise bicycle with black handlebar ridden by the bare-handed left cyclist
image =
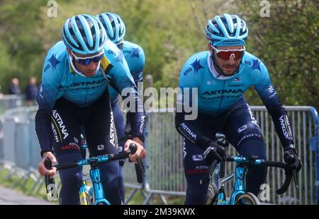
<svg viewBox="0 0 319 219"><path fill-rule="evenodd" d="M106 154L106 155L100 155L97 157L91 157L79 161L74 162L68 162L68 163L62 163L55 166L52 166L52 162L50 159L45 160L45 167L47 167L48 170L52 169L52 167L56 167L57 170L65 170L72 167L79 167L84 165L90 165L90 178L93 184L93 197L94 200L91 200L91 196L87 192L87 186L86 182L82 184L79 190L80 197L82 198L81 203L82 204L94 204L94 205L110 205L111 203L106 199L102 183L101 183L101 174L98 167L98 164L109 162L112 160L122 160L128 158L128 155L134 154L137 147L134 143L130 143L129 151L125 153L120 154ZM138 182L142 182L142 177L145 176L145 168L142 166L142 162L140 162L140 159L138 159L138 165L135 165L135 171L137 175ZM47 193L52 191L52 186L49 187L50 184L55 184L54 177L49 177L48 175L45 175L45 187L47 188Z"/></svg>

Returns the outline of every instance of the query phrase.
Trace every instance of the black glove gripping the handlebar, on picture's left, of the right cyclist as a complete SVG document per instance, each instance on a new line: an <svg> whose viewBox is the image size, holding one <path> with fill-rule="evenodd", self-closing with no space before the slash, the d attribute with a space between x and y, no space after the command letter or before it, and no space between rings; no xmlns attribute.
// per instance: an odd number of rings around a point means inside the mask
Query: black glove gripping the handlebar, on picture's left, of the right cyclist
<svg viewBox="0 0 319 219"><path fill-rule="evenodd" d="M208 144L208 148L206 148L206 150L203 153L203 158L209 164L211 164L214 160L220 162L221 160L226 158L225 148L211 141Z"/></svg>

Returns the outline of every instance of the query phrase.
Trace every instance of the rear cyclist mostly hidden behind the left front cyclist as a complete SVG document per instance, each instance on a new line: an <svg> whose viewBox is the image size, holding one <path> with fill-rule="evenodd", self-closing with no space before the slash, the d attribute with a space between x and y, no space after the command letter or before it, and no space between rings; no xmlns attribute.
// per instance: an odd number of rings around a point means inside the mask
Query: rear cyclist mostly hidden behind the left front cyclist
<svg viewBox="0 0 319 219"><path fill-rule="evenodd" d="M125 60L128 63L128 69L130 69L130 73L133 76L135 85L138 83L142 83L143 81L143 69L145 66L145 54L139 45L136 45L133 42L128 42L124 40L125 36L125 24L120 16L116 13L105 12L96 16L103 27L106 30L106 34L108 35L108 39L115 43L118 49L121 50ZM111 88L109 90L111 97L111 107L114 116L114 122L116 125L116 134L118 135L118 150L120 153L123 151L123 147L125 141L123 141L124 136L131 135L130 128L130 118L127 114L126 116L126 125L124 124L121 106L118 100L118 92ZM144 118L145 119L145 118ZM123 165L124 160L120 161L120 187L121 187L121 196L123 201L125 200L125 189L124 189L124 181L123 181Z"/></svg>

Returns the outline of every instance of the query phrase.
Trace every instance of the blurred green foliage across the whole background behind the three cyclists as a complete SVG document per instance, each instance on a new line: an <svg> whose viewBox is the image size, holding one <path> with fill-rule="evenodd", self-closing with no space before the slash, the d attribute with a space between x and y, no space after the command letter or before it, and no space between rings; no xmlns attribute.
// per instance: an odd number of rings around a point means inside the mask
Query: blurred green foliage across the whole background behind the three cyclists
<svg viewBox="0 0 319 219"><path fill-rule="evenodd" d="M13 76L21 88L29 76L40 81L43 59L62 40L65 20L74 14L115 12L123 18L125 40L140 45L146 56L145 75L155 88L176 87L179 71L196 52L206 50L204 27L209 18L237 13L250 28L247 51L266 64L285 105L318 105L318 1L269 1L270 17L263 18L260 1L222 0L59 0L57 17L48 17L47 1L1 1L0 85L6 93ZM253 88L245 95L260 105Z"/></svg>

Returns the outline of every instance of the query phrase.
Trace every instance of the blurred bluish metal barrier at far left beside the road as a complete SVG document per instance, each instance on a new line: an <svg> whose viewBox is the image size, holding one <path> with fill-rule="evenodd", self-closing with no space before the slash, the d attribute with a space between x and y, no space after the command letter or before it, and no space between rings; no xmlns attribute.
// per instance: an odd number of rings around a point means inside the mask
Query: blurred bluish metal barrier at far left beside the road
<svg viewBox="0 0 319 219"><path fill-rule="evenodd" d="M40 147L35 136L34 117L38 107L16 107L7 110L0 117L0 164L1 172L8 170L5 179L13 174L19 179L12 187L21 184L26 186L29 179L33 179L32 191L40 191L43 177L38 171L40 161Z"/></svg>

